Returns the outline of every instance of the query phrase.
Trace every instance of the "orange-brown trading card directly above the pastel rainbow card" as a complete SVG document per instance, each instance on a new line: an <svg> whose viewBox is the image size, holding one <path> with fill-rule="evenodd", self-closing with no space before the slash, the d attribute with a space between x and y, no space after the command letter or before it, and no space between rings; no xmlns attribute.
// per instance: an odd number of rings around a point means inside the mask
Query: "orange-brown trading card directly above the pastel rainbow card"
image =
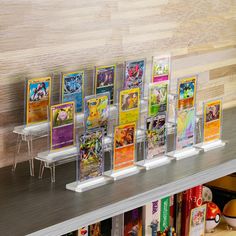
<svg viewBox="0 0 236 236"><path fill-rule="evenodd" d="M178 109L194 107L196 95L196 77L184 78L178 81Z"/></svg>

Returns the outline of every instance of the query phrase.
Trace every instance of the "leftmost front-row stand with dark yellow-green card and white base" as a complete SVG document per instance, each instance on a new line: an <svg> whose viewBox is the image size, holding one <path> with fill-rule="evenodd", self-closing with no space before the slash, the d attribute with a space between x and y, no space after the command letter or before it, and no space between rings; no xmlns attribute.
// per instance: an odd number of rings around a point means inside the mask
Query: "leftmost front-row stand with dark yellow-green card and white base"
<svg viewBox="0 0 236 236"><path fill-rule="evenodd" d="M103 133L100 129L98 129L96 131L85 132L84 135L80 137L80 140L78 141L78 145L77 145L78 155L77 155L77 161L76 161L76 181L66 184L66 189L75 191L75 192L85 192L90 189L94 189L102 185L113 182L112 178L104 175L104 165L105 165L104 164L104 151L110 149L109 143L111 143L111 141L108 140L110 139L110 137L106 136L104 138L102 134L102 136L100 136L100 139L97 139L96 145L94 145L94 148L95 146L99 145L98 142L100 142L100 144L102 145L99 151L100 153L99 152L96 153L96 157L100 158L100 160L95 161L94 159L95 156L93 156L93 154L91 155L88 149L86 148L83 149L84 145L85 146L88 145L86 141L86 140L89 140L88 137L92 139L93 137L95 137L95 135L97 134L99 135L99 132L101 134ZM84 158L85 155L86 155L86 158Z"/></svg>

